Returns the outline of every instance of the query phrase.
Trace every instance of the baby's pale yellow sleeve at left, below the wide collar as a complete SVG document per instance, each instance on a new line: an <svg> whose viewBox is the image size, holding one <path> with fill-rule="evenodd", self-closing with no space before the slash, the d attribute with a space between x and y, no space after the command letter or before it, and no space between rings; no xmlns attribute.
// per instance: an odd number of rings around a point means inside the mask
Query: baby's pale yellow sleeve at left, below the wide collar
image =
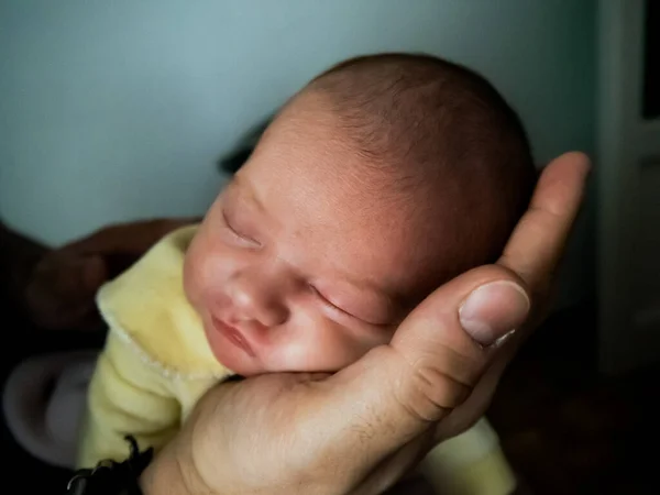
<svg viewBox="0 0 660 495"><path fill-rule="evenodd" d="M128 435L141 449L157 450L178 430L180 414L164 373L110 330L89 386L78 468L94 468L105 459L125 460Z"/></svg>

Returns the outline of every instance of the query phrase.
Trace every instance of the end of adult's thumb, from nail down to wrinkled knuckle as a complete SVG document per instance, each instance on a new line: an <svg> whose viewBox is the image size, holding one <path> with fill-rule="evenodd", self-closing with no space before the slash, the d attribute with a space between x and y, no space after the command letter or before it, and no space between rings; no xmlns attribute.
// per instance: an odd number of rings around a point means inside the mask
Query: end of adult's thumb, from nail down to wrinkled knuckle
<svg viewBox="0 0 660 495"><path fill-rule="evenodd" d="M392 348L407 364L399 400L433 421L464 402L493 358L493 346L529 312L521 283L483 266L443 285L404 321Z"/></svg>

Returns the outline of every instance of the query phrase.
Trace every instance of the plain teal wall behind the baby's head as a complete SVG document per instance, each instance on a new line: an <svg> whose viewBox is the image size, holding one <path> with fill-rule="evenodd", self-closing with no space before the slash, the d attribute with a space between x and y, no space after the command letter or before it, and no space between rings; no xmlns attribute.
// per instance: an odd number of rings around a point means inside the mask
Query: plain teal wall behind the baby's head
<svg viewBox="0 0 660 495"><path fill-rule="evenodd" d="M482 72L520 112L539 163L591 152L595 9L4 0L0 213L51 243L112 221L201 213L221 186L215 161L245 130L329 64L367 52L430 52Z"/></svg>

